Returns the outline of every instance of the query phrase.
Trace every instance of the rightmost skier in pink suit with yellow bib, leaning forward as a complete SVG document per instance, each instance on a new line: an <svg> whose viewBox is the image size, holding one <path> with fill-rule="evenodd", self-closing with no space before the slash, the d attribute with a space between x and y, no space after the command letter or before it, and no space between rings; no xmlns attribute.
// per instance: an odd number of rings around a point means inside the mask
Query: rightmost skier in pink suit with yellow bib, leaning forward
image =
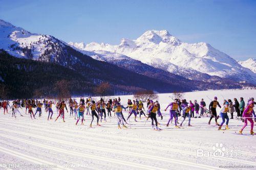
<svg viewBox="0 0 256 170"><path fill-rule="evenodd" d="M251 135L254 135L254 132L253 132L253 120L252 120L252 110L253 110L253 107L254 107L254 102L253 101L250 101L249 102L249 105L246 106L244 112L243 112L243 118L244 118L244 126L242 127L242 129L239 131L240 134L242 134L244 128L247 126L247 120L251 123L251 131L250 131L250 134Z"/></svg>

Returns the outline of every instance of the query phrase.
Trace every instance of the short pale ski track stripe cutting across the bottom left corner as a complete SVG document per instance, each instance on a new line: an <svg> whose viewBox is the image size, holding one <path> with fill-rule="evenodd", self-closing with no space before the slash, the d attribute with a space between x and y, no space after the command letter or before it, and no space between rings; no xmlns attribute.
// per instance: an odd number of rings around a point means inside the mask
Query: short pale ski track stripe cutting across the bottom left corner
<svg viewBox="0 0 256 170"><path fill-rule="evenodd" d="M0 147L0 152L4 152L8 155L11 155L11 156L14 156L14 157L17 157L17 158L21 158L23 160L33 162L33 163L36 163L36 164L57 165L56 163L52 163L52 162L48 162L48 161L45 161L45 160L42 160L42 159L38 159L38 158L29 156L29 155L25 155L25 154L22 154L22 153L19 153L19 152L16 152L16 151L13 151L13 150L10 150L10 149L7 149L7 148L3 148L3 147ZM65 169L65 168L63 168L61 165L57 165L57 169Z"/></svg>

